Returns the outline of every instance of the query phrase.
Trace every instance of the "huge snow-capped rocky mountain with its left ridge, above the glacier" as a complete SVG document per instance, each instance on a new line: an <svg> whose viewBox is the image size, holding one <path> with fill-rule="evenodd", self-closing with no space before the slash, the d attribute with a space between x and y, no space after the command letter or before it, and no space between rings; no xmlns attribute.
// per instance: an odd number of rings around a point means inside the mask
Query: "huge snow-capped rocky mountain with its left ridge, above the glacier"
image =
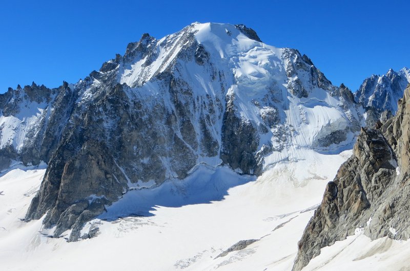
<svg viewBox="0 0 410 271"><path fill-rule="evenodd" d="M84 224L132 190L203 168L259 176L316 161L351 148L364 121L350 90L307 56L213 23L144 34L84 80L0 101L2 167L47 163L25 220L54 237L69 230L69 241L91 236Z"/></svg>

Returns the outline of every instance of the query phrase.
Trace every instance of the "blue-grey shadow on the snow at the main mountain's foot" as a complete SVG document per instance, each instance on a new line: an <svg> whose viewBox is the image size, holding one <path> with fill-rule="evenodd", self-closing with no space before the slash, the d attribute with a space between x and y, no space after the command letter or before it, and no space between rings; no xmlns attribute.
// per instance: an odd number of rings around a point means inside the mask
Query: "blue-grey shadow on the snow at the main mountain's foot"
<svg viewBox="0 0 410 271"><path fill-rule="evenodd" d="M129 216L154 216L156 207L182 207L210 204L223 200L232 187L243 185L256 176L240 175L228 167L215 169L200 166L183 180L168 180L155 188L131 190L106 207L107 212L97 218L113 221Z"/></svg>

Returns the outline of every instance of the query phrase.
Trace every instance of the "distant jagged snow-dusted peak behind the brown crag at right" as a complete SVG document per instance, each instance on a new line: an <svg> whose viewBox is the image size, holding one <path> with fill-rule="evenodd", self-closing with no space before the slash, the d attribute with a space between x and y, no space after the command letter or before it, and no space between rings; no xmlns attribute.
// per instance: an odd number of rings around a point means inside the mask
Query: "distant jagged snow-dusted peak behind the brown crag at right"
<svg viewBox="0 0 410 271"><path fill-rule="evenodd" d="M396 114L397 101L409 82L410 70L406 67L398 72L390 69L385 75L372 75L363 81L354 97L366 108L367 126L374 127L380 118L386 120Z"/></svg>

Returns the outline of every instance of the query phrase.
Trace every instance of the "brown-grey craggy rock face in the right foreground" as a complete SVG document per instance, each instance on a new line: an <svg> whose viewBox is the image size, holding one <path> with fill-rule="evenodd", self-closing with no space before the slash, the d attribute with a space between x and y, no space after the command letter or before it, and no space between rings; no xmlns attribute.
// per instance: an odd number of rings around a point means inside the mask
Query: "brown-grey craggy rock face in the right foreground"
<svg viewBox="0 0 410 271"><path fill-rule="evenodd" d="M353 155L342 164L307 225L293 270L300 270L320 249L363 228L372 239L410 237L410 87L397 115L379 130L362 128Z"/></svg>

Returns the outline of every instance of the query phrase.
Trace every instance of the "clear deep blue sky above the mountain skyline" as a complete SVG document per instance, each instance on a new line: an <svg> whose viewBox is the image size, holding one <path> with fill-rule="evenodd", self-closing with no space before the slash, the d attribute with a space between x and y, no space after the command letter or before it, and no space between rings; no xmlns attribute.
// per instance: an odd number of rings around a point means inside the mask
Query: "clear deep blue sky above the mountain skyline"
<svg viewBox="0 0 410 271"><path fill-rule="evenodd" d="M143 33L161 38L194 21L245 24L355 91L371 74L410 66L409 10L408 0L2 1L0 93L75 83Z"/></svg>

